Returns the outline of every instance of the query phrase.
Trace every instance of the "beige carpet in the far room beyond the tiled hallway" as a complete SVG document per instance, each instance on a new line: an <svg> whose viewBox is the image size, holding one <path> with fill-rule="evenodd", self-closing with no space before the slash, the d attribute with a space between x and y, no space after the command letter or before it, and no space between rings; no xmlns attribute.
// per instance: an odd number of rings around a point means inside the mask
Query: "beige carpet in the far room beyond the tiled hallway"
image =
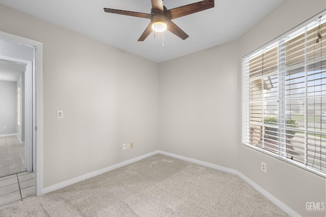
<svg viewBox="0 0 326 217"><path fill-rule="evenodd" d="M0 177L26 171L24 161L25 146L16 135L0 137Z"/></svg>

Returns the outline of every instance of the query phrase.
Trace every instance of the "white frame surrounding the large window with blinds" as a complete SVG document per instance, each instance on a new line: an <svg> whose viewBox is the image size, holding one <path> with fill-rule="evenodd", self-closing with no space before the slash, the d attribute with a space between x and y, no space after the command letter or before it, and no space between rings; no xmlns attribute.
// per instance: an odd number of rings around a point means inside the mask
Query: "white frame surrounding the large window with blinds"
<svg viewBox="0 0 326 217"><path fill-rule="evenodd" d="M280 159L282 161L288 162L289 164L292 164L292 165L297 166L299 168L305 169L307 171L310 171L310 172L312 172L314 174L317 174L319 176L322 176L322 177L326 177L326 171L319 171L319 170L316 170L314 168L308 167L308 166L304 165L302 162L298 162L298 161L295 161L293 159L288 158L287 156L284 156L284 154L282 154L281 152L279 152L278 154L273 153L271 151L268 151L268 150L265 150L263 148L260 148L260 147L257 147L255 145L247 143L248 141L250 141L250 136L249 136L249 139L248 139L248 132L246 132L246 129L248 130L250 128L250 125L251 125L251 121L250 121L250 97L251 96L250 96L249 70L246 70L246 69L249 68L248 67L248 64L249 64L248 58L250 58L250 57L253 58L252 57L253 55L255 55L255 57L258 57L260 55L260 53L259 53L260 51L262 53L264 49L270 49L273 46L279 46L279 44L281 44L279 42L284 41L286 37L291 36L296 31L304 28L306 25L308 25L308 24L312 23L313 21L317 20L320 16L325 16L326 15L325 12L326 11L323 11L323 12L315 15L314 17L310 18L309 20L305 21L304 23L296 26L292 30L290 30L290 31L284 33L283 35L279 36L275 40L270 41L269 43L261 46L260 48L256 49L255 51L253 51L253 52L249 53L248 55L244 56L242 58L242 81L241 81L241 84L242 84L242 138L241 138L242 145L246 146L246 147L250 147L250 148L252 148L254 150L257 150L259 152L268 154L270 156L276 157L276 158L278 158L278 159ZM282 53L281 55L284 55L284 53ZM279 66L278 68L280 68L280 67L282 67L282 66ZM280 73L278 73L278 75L280 76ZM281 76L284 76L284 74L281 75ZM279 84L279 86L280 87L282 86L280 89L283 89L282 91L284 91L285 84ZM286 99L283 99L283 103L285 102L285 100ZM264 106L264 105L262 105L262 106ZM283 108L283 114L280 113L280 115L285 115L284 114L285 113L284 105L281 105L281 110L282 110L282 108ZM279 110L280 110L280 108L279 108ZM282 112L281 110L280 110L280 112ZM305 117L307 117L307 116L308 115L307 115L307 108L306 108ZM262 128L264 127L263 122L264 121L262 121ZM279 123L278 126L280 124L282 124L282 123ZM305 129L305 131L309 131L309 130ZM249 134L250 134L250 132L249 132ZM279 144L279 148L282 148L282 144Z"/></svg>

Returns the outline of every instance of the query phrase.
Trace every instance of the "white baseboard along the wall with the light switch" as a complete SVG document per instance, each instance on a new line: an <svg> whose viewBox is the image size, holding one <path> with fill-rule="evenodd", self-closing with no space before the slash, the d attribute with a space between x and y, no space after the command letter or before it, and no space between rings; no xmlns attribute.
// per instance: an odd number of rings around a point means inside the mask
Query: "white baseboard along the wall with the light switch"
<svg viewBox="0 0 326 217"><path fill-rule="evenodd" d="M73 179L69 179L67 181L60 182L58 184L54 184L54 185L42 188L42 195L44 195L46 193L49 193L49 192L56 191L56 190L58 190L60 188L66 187L66 186L74 184L76 182L83 181L85 179L89 179L89 178L92 178L94 176L98 176L98 175L100 175L102 173L106 173L108 171L115 170L117 168L126 166L128 164L131 164L132 162L144 159L146 157L152 156L152 155L157 154L157 153L159 153L159 152L158 151L153 151L153 152L150 152L148 154L144 154L144 155L141 155L139 157L135 157L135 158L132 158L130 160L120 162L119 164L115 164L115 165L112 165L110 167L106 167L106 168L103 168L103 169L100 169L100 170L97 170L97 171L94 171L94 172L91 172L91 173L87 173L87 174L82 175L82 176L78 176L78 177L73 178Z"/></svg>

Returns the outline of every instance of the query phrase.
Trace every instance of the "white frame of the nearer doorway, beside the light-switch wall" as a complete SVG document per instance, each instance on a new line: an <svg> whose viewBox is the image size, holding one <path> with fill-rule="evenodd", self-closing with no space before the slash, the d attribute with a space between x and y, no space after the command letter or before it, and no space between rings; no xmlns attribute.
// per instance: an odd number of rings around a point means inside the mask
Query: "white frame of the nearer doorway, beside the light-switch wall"
<svg viewBox="0 0 326 217"><path fill-rule="evenodd" d="M6 32L0 31L0 39L11 41L17 44L21 44L24 46L29 46L34 48L35 50L35 57L33 61L33 77L35 78L35 84L33 86L35 89L33 90L33 95L35 96L34 104L34 114L32 120L35 120L35 123L33 123L32 132L33 133L33 141L35 141L35 148L33 157L35 159L34 166L35 166L35 193L36 196L42 195L42 189L43 189L43 178L42 178L42 169L43 169L43 159L42 159L42 153L43 153L43 101L42 101L42 51L43 51L43 44L38 41L34 41L31 39L23 38L20 36L12 35ZM27 127L25 127L27 128ZM27 134L25 134L27 135Z"/></svg>

